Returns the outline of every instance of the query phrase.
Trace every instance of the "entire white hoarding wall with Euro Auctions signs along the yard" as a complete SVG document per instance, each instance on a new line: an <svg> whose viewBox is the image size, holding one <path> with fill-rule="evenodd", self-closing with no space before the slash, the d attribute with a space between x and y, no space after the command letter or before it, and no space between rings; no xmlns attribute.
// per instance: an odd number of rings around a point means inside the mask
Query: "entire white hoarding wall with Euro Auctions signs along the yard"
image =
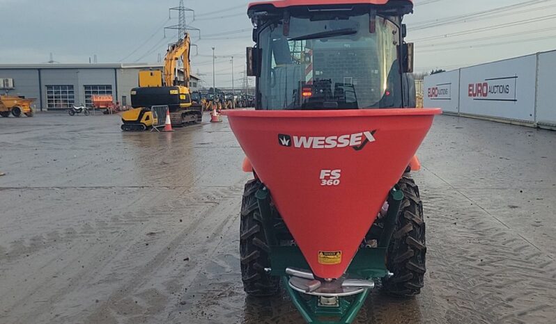
<svg viewBox="0 0 556 324"><path fill-rule="evenodd" d="M556 50L425 76L424 104L444 113L556 129Z"/></svg>

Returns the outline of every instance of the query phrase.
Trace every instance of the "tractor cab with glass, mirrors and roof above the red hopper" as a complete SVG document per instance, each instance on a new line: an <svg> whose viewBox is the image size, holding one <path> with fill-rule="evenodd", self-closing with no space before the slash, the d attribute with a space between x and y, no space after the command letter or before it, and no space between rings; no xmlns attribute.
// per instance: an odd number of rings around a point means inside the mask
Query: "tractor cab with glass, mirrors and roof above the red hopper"
<svg viewBox="0 0 556 324"><path fill-rule="evenodd" d="M345 4L343 4L345 2ZM256 108L339 110L415 107L404 0L254 3Z"/></svg>

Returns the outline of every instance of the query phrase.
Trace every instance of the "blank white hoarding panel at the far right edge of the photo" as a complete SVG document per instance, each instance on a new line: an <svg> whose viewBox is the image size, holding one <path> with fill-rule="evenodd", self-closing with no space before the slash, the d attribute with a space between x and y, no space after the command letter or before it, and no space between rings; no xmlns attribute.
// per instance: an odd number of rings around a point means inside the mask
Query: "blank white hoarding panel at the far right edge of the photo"
<svg viewBox="0 0 556 324"><path fill-rule="evenodd" d="M539 54L536 122L556 126L556 51Z"/></svg>

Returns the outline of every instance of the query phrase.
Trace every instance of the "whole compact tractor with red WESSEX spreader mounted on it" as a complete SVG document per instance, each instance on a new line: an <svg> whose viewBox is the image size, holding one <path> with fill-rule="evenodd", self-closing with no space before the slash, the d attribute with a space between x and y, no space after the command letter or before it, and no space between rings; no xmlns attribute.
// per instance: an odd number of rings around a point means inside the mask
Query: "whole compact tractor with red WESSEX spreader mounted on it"
<svg viewBox="0 0 556 324"><path fill-rule="evenodd" d="M247 158L249 295L279 285L309 323L351 323L371 289L417 295L425 225L410 176L440 109L415 108L410 0L252 3L254 111L224 111Z"/></svg>

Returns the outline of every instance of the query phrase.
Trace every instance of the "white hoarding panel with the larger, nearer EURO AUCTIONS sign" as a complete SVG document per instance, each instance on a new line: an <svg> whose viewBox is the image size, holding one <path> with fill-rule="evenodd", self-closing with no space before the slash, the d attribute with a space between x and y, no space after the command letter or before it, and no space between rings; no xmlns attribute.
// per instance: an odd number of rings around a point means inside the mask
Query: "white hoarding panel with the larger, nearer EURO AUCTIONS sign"
<svg viewBox="0 0 556 324"><path fill-rule="evenodd" d="M465 67L460 113L534 122L536 55Z"/></svg>

